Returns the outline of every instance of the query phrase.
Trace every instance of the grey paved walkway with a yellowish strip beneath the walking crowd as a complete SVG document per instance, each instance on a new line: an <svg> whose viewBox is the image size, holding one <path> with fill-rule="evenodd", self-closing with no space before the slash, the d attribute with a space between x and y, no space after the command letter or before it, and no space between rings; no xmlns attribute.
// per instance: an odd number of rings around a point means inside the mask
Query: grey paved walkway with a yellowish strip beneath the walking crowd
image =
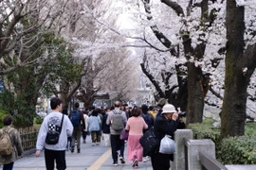
<svg viewBox="0 0 256 170"><path fill-rule="evenodd" d="M119 162L118 166L113 166L110 146L92 146L90 136L86 139L86 144L81 143L81 153L66 151L66 170L132 170L132 161L127 162L126 147L124 153L125 164ZM76 147L75 147L76 148ZM32 153L14 162L13 170L46 170L44 151L40 157L35 157ZM153 170L151 161L139 162L139 170Z"/></svg>

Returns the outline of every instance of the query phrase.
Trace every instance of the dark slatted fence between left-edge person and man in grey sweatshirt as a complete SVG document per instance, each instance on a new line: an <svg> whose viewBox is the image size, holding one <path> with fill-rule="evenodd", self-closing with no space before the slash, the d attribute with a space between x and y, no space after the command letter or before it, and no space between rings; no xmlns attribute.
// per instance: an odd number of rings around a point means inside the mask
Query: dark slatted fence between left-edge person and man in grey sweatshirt
<svg viewBox="0 0 256 170"><path fill-rule="evenodd" d="M24 151L35 149L38 130L35 127L18 128Z"/></svg>

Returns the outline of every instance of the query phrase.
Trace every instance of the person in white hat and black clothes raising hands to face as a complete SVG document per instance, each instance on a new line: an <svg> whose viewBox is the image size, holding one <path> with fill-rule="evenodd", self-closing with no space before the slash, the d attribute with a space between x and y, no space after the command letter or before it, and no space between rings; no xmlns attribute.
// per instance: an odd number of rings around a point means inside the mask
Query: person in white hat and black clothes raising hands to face
<svg viewBox="0 0 256 170"><path fill-rule="evenodd" d="M161 141L165 135L170 135L174 139L174 131L179 125L178 114L173 105L166 104L163 106L161 114L155 118L154 133L155 137ZM156 149L156 153L151 157L151 163L154 170L169 170L170 160L174 161L173 154L159 153L159 149Z"/></svg>

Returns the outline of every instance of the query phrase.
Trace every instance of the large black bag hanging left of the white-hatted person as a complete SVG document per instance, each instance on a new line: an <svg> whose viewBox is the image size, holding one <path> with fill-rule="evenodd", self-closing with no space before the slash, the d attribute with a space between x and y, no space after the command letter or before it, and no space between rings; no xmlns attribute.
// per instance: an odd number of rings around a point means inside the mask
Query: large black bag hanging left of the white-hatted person
<svg viewBox="0 0 256 170"><path fill-rule="evenodd" d="M143 147L145 155L152 156L157 151L159 147L159 140L155 137L154 128L147 130L143 136L139 139L139 143Z"/></svg>

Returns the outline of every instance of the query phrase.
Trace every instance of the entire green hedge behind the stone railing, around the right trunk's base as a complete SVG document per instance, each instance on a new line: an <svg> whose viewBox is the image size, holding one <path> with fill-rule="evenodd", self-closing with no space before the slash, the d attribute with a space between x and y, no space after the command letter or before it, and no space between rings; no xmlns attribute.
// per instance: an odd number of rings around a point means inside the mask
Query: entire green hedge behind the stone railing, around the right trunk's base
<svg viewBox="0 0 256 170"><path fill-rule="evenodd" d="M256 163L256 123L247 123L245 136L230 137L221 143L220 128L212 127L213 121L206 120L202 124L190 124L193 139L210 139L215 143L216 158L223 164L255 164Z"/></svg>

